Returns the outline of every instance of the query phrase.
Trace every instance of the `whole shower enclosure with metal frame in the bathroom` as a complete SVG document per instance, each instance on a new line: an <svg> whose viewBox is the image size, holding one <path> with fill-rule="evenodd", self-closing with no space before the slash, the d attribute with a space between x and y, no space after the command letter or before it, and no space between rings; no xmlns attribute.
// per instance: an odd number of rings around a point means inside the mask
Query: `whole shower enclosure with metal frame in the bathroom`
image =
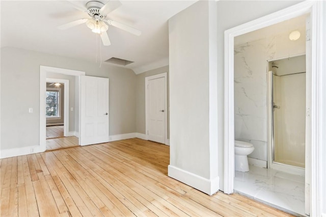
<svg viewBox="0 0 326 217"><path fill-rule="evenodd" d="M268 161L271 168L273 165L296 170L305 168L305 60L303 55L268 63Z"/></svg>

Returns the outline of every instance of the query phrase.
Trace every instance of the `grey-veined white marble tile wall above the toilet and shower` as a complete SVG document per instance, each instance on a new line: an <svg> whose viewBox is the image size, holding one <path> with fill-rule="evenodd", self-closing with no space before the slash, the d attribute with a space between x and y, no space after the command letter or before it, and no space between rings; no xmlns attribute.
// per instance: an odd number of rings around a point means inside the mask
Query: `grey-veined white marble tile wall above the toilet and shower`
<svg viewBox="0 0 326 217"><path fill-rule="evenodd" d="M234 47L234 136L254 145L249 157L267 161L267 61L305 53L305 48L305 37L290 41L288 33Z"/></svg>

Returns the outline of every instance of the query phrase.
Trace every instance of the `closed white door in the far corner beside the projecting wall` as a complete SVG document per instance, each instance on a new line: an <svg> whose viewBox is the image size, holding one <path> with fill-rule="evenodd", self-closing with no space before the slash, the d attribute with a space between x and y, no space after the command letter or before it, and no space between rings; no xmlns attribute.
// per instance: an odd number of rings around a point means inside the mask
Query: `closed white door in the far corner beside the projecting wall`
<svg viewBox="0 0 326 217"><path fill-rule="evenodd" d="M165 143L165 77L148 80L148 140Z"/></svg>

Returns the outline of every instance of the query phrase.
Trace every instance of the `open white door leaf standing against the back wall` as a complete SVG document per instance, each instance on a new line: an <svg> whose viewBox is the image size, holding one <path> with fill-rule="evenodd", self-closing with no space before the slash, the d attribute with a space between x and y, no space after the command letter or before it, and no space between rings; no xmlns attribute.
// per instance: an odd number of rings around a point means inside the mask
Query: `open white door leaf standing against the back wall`
<svg viewBox="0 0 326 217"><path fill-rule="evenodd" d="M80 145L108 142L108 78L80 77Z"/></svg>

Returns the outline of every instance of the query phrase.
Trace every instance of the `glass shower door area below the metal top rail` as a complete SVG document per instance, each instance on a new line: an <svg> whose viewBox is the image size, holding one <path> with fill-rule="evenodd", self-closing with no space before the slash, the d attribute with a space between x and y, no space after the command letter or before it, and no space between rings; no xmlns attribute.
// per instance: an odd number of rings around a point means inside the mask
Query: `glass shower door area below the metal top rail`
<svg viewBox="0 0 326 217"><path fill-rule="evenodd" d="M273 162L305 168L306 73L273 75Z"/></svg>

